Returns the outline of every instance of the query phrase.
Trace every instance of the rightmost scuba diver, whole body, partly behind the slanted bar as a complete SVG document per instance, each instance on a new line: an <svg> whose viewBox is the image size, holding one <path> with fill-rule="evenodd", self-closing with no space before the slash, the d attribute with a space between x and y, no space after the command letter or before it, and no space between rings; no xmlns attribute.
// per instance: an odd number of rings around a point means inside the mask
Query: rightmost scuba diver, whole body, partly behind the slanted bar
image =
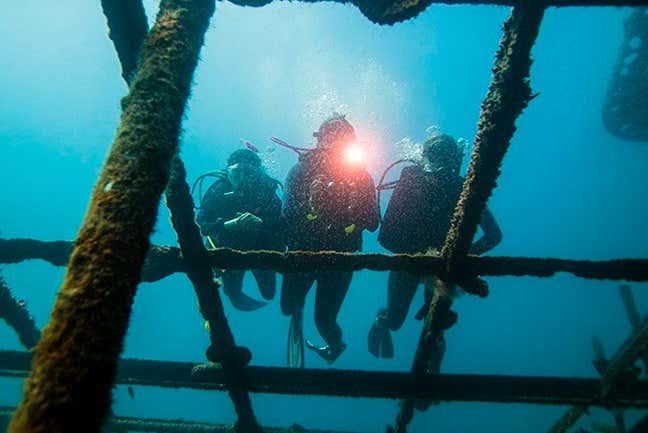
<svg viewBox="0 0 648 433"><path fill-rule="evenodd" d="M382 221L378 242L393 253L425 253L443 246L450 220L461 193L463 178L459 175L463 150L449 135L437 134L423 145L420 164L403 169ZM483 236L473 243L470 254L480 255L502 240L492 213L485 209L480 227ZM390 331L400 329L420 283L425 285L426 305L416 315L422 319L434 290L434 277L421 278L403 271L390 271L387 308L380 310L369 331L369 352L377 358L392 358ZM447 310L445 328L456 321L456 314ZM436 341L434 366L440 368L445 350L443 335Z"/></svg>

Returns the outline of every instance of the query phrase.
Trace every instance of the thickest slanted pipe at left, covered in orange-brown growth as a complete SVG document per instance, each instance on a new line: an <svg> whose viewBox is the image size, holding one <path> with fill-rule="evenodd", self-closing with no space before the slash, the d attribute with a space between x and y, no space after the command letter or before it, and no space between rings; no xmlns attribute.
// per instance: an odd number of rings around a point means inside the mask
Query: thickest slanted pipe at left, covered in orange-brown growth
<svg viewBox="0 0 648 433"><path fill-rule="evenodd" d="M213 0L163 0L11 433L101 430Z"/></svg>

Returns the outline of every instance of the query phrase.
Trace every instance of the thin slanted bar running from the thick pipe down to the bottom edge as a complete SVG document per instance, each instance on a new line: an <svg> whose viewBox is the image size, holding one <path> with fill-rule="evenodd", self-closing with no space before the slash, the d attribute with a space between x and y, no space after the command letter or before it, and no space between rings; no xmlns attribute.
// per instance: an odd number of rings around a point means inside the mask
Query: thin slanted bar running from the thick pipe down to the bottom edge
<svg viewBox="0 0 648 433"><path fill-rule="evenodd" d="M225 317L218 284L214 281L209 264L209 255L194 221L194 203L186 177L184 164L176 157L171 163L171 178L166 191L171 223L178 235L182 255L187 264L187 276L198 297L200 311L205 320L209 321L215 360L222 365L228 392L238 416L237 430L246 433L260 432L262 429L254 415L250 395L247 389L239 384L244 363L237 356L239 351Z"/></svg>

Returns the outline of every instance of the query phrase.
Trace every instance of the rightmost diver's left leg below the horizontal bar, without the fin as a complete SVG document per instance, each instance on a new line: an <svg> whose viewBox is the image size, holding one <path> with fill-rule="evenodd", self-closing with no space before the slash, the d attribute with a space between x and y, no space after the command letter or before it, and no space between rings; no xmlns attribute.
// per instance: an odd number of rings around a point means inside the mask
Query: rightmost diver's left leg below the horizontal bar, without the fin
<svg viewBox="0 0 648 433"><path fill-rule="evenodd" d="M385 325L392 331L403 326L420 281L419 277L409 272L389 272Z"/></svg>

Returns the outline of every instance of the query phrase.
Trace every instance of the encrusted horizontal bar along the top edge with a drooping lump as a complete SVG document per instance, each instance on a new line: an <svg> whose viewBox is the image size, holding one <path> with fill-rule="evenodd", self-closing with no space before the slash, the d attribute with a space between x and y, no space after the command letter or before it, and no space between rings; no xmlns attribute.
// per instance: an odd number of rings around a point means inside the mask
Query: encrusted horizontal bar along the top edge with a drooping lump
<svg viewBox="0 0 648 433"><path fill-rule="evenodd" d="M240 6L261 7L274 0L230 0ZM519 6L523 0L299 0L303 3L336 2L355 5L376 24L395 24L416 17L431 4ZM642 6L647 0L534 0L539 6Z"/></svg>

